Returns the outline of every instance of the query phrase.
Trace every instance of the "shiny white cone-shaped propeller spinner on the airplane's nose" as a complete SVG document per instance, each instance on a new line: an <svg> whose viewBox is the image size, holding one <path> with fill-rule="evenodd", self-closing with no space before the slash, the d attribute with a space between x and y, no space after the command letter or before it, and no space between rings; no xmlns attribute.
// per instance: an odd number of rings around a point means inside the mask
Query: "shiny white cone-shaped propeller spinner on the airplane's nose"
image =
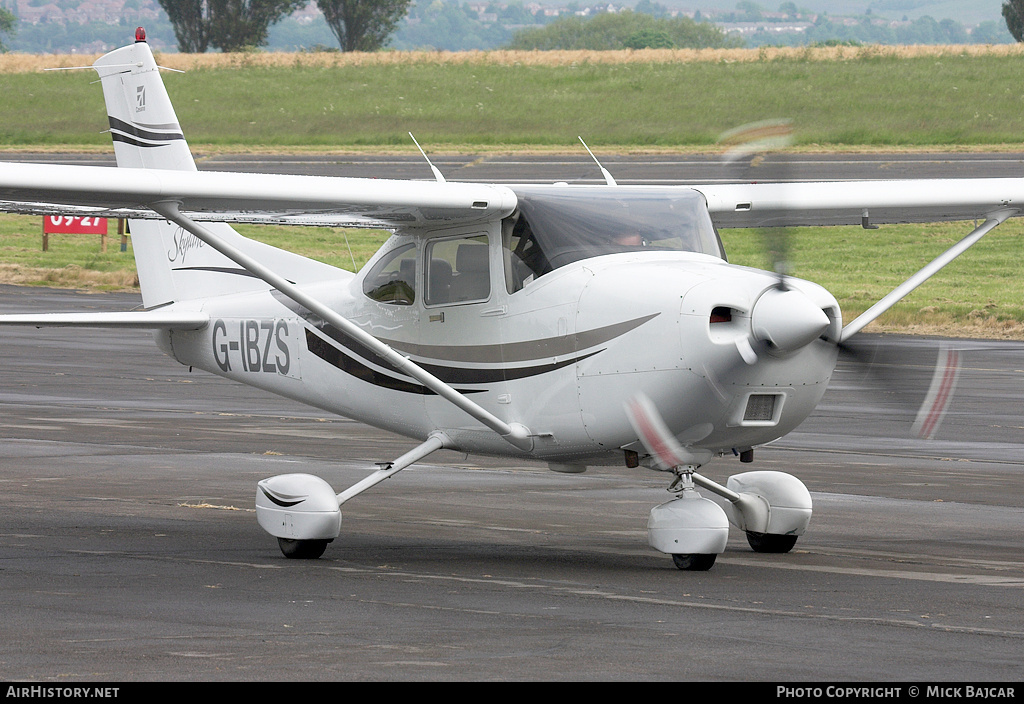
<svg viewBox="0 0 1024 704"><path fill-rule="evenodd" d="M820 306L794 289L769 289L754 305L751 328L756 340L793 352L817 340L829 320Z"/></svg>

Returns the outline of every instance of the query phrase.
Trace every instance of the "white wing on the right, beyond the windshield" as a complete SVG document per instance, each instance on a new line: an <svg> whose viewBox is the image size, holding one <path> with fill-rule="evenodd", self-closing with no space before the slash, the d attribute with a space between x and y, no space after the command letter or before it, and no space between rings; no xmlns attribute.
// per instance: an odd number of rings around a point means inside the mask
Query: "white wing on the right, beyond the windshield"
<svg viewBox="0 0 1024 704"><path fill-rule="evenodd" d="M1024 209L1024 178L695 185L719 227L984 219Z"/></svg>

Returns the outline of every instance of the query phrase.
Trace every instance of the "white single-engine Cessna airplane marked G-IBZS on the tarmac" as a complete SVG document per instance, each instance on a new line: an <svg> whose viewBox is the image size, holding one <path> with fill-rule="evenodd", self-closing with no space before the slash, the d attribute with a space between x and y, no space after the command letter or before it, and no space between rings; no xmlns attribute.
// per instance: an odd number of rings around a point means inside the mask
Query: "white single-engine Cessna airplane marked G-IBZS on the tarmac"
<svg viewBox="0 0 1024 704"><path fill-rule="evenodd" d="M485 185L199 172L144 33L93 63L118 168L0 165L3 209L130 217L144 310L0 316L2 324L153 328L182 364L415 439L336 493L259 482L259 524L318 558L341 504L441 448L672 473L649 542L706 570L729 524L791 549L811 517L795 477L696 470L796 428L840 345L982 235L1020 215L1024 178L709 186ZM70 209L70 210L69 210ZM729 264L716 227L981 220L843 326L836 299ZM378 227L350 273L227 222ZM696 487L708 496L697 493Z"/></svg>

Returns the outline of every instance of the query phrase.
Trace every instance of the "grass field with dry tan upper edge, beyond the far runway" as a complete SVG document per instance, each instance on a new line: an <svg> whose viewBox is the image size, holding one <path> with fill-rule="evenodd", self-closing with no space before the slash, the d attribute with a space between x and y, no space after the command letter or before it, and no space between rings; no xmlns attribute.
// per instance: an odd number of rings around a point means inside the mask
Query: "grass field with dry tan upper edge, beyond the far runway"
<svg viewBox="0 0 1024 704"><path fill-rule="evenodd" d="M1024 142L1024 55L674 63L391 63L165 74L194 148L401 145L439 150L708 147L730 128L794 122L798 143ZM89 72L0 73L0 147L104 145Z"/></svg>

